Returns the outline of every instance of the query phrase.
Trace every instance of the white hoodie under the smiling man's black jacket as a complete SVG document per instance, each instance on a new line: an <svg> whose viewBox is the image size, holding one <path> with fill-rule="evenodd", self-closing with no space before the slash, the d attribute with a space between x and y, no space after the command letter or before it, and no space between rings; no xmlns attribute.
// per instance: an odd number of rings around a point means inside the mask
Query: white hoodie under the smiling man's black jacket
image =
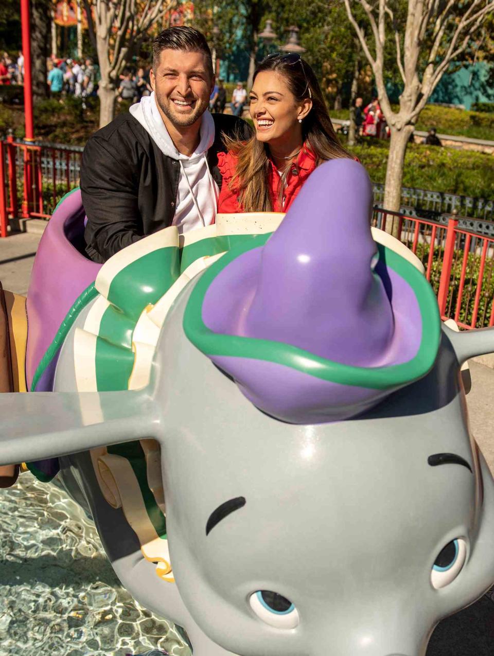
<svg viewBox="0 0 494 656"><path fill-rule="evenodd" d="M188 230L209 226L216 217L219 191L207 163L207 151L215 140L215 121L211 113L203 113L199 146L190 157L187 157L176 150L157 108L154 91L150 96L143 96L140 102L131 106L129 111L150 134L159 150L167 157L178 161L180 165L173 219L173 225L178 228L178 233L183 234Z"/></svg>

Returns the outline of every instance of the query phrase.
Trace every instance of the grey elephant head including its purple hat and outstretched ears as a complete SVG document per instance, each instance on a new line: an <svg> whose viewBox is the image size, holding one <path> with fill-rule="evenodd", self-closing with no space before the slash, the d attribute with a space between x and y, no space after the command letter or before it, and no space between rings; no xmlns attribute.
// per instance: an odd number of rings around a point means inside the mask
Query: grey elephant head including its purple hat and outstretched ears
<svg viewBox="0 0 494 656"><path fill-rule="evenodd" d="M145 388L0 398L3 462L159 441L179 596L125 584L198 656L423 656L494 581L460 375L493 331L440 327L428 283L371 239L360 165L316 173L265 246L184 285Z"/></svg>

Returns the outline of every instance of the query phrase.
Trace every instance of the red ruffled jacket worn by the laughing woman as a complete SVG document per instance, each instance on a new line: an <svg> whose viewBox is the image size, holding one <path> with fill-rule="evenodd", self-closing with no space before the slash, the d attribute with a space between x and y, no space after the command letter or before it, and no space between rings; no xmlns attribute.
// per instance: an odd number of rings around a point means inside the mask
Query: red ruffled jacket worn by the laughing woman
<svg viewBox="0 0 494 656"><path fill-rule="evenodd" d="M243 212L243 207L238 201L239 190L237 186L230 189L230 182L235 175L237 165L237 157L231 152L218 153L218 169L223 178L223 184L218 198L218 213L232 214L235 212ZM270 160L270 172L268 179L268 186L271 195L271 203L273 212L286 212L293 200L297 196L302 184L306 181L308 176L316 168L316 157L306 146L302 146L300 154L298 154L297 162L294 162L287 176L287 186L285 188L285 202L283 207L279 202L279 184L281 178L276 166Z"/></svg>

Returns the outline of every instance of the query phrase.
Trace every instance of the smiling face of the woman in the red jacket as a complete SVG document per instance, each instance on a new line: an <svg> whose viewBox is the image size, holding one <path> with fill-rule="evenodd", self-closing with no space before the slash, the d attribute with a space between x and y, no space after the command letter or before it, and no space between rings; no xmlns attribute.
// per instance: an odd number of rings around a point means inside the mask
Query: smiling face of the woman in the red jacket
<svg viewBox="0 0 494 656"><path fill-rule="evenodd" d="M292 135L300 126L298 118L303 119L310 110L306 102L297 102L283 76L275 71L258 73L249 97L257 140L266 143Z"/></svg>

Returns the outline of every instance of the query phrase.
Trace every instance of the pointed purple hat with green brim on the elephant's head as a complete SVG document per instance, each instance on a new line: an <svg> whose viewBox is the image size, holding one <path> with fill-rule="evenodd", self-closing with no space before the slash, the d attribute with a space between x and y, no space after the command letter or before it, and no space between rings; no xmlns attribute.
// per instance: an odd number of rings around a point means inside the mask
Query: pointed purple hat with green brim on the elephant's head
<svg viewBox="0 0 494 656"><path fill-rule="evenodd" d="M326 162L268 241L232 249L192 292L190 340L277 419L352 417L434 364L434 292L373 241L371 211L363 166Z"/></svg>

